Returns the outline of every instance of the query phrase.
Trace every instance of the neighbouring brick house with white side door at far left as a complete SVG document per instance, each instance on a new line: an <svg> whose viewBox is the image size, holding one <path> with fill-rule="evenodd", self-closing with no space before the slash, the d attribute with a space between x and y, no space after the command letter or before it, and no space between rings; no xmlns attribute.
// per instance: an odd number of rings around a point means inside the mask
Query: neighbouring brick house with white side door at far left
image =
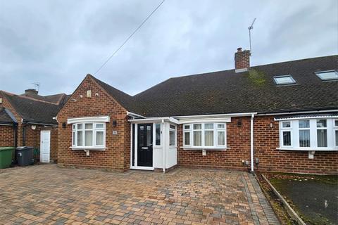
<svg viewBox="0 0 338 225"><path fill-rule="evenodd" d="M65 94L40 96L35 89L17 95L0 91L0 146L32 146L41 162L57 160L58 123ZM38 154L39 152L39 154Z"/></svg>

